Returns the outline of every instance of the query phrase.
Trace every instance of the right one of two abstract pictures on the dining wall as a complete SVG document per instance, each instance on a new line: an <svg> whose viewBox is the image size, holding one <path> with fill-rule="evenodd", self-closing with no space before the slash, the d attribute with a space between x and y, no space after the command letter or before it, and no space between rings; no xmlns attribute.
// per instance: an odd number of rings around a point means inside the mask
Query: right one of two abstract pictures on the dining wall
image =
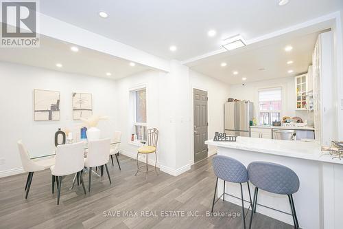
<svg viewBox="0 0 343 229"><path fill-rule="evenodd" d="M73 92L73 120L89 118L92 114L92 94Z"/></svg>

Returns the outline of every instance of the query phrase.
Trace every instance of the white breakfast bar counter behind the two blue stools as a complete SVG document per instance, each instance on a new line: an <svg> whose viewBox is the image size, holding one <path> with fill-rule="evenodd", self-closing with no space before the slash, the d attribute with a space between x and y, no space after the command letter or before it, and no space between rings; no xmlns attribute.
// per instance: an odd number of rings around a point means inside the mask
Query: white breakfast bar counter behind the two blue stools
<svg viewBox="0 0 343 229"><path fill-rule="evenodd" d="M207 140L205 144L216 146L218 155L233 157L245 166L251 162L265 161L291 168L300 180L300 188L294 194L300 228L339 228L333 225L340 225L342 220L337 216L342 214L340 206L343 205L343 196L338 194L343 190L343 160L323 155L317 142L237 137L237 142ZM219 182L218 190L222 188L223 182ZM250 190L253 193L253 188ZM244 196L248 197L246 187L244 192ZM237 184L227 182L226 193L240 197L240 188ZM222 191L217 194L219 197ZM225 200L241 204L234 197L228 196ZM274 195L261 190L257 212L293 225L292 216L287 215L290 213L287 195ZM322 226L324 222L329 225Z"/></svg>

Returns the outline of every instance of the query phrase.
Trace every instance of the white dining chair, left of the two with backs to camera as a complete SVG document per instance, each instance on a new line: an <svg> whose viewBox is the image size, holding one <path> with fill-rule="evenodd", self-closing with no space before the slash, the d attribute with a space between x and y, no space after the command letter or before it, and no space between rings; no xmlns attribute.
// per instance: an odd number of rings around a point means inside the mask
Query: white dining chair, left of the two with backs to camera
<svg viewBox="0 0 343 229"><path fill-rule="evenodd" d="M52 190L54 193L55 181L57 187L57 204L60 204L60 193L62 187L62 176L75 174L80 178L84 194L86 195L86 188L82 179L81 171L84 168L84 143L78 142L73 144L61 144L56 149L56 162L51 166L52 175Z"/></svg>

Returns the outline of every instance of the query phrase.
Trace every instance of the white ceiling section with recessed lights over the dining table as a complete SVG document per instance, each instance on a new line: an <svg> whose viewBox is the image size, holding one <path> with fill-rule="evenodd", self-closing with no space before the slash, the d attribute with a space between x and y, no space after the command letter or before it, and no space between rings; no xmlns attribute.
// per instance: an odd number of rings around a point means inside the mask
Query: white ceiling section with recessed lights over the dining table
<svg viewBox="0 0 343 229"><path fill-rule="evenodd" d="M64 41L40 36L38 48L2 48L0 61L112 79L150 69L143 65L131 67L130 61L85 47L79 47L79 52L71 52L71 46L73 45ZM56 67L56 63L61 63L63 67ZM106 76L106 72L112 75Z"/></svg>

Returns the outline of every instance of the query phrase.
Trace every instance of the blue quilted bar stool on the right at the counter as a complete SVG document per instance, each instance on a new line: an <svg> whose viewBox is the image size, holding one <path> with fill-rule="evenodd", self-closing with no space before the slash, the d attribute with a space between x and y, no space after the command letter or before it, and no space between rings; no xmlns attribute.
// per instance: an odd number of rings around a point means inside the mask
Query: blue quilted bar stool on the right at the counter
<svg viewBox="0 0 343 229"><path fill-rule="evenodd" d="M287 195L289 204L292 210L292 217L294 228L299 228L298 219L296 217L296 208L294 207L293 194L299 189L299 178L292 171L281 164L270 162L252 162L248 166L249 180L255 185L254 200L252 201L252 213L250 215L250 226L252 223L252 216L256 212L257 193L259 189L270 193Z"/></svg>

